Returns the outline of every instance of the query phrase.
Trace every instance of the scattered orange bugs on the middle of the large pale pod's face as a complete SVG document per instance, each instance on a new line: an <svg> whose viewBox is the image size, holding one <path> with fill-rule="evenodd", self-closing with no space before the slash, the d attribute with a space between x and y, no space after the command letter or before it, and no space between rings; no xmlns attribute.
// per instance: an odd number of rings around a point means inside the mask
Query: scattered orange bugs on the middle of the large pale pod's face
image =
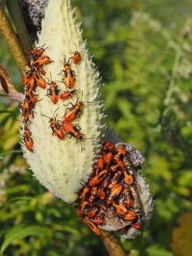
<svg viewBox="0 0 192 256"><path fill-rule="evenodd" d="M72 52L72 54L73 55L70 58L68 58L68 62L66 62L65 60L64 69L62 69L58 74L61 75L61 73L64 73L64 77L61 78L60 82L63 85L65 85L65 91L62 91L60 94L61 90L58 89L58 85L56 84L56 82L52 80L51 82L48 81L49 88L47 90L46 95L51 99L51 102L54 104L58 103L59 98L65 101L69 98L73 98L74 95L77 95L80 92L78 89L74 89L75 74L71 65L80 64L81 53L75 51ZM69 102L68 105L71 105L71 107L65 109L65 113L62 117L62 120L57 120L56 118L54 118L55 114L52 118L48 117L50 120L49 122L52 130L52 135L56 135L61 140L64 139L65 136L71 136L76 138L77 141L81 141L84 138L84 134L81 133L81 128L77 124L73 124L72 121L74 121L74 119L80 116L81 108L84 105L84 102L82 100L77 99L77 101L74 104L72 102Z"/></svg>

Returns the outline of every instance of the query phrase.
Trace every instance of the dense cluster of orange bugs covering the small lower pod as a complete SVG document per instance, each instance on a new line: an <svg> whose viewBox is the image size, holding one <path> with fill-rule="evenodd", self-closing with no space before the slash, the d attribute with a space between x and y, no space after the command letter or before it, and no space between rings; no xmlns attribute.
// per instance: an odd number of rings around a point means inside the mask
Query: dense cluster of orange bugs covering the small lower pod
<svg viewBox="0 0 192 256"><path fill-rule="evenodd" d="M141 228L131 190L135 184L134 174L125 165L126 148L106 141L101 152L93 175L78 194L76 214L98 235L102 233L98 226L105 224L104 216L109 209L114 218L127 221L127 228Z"/></svg>

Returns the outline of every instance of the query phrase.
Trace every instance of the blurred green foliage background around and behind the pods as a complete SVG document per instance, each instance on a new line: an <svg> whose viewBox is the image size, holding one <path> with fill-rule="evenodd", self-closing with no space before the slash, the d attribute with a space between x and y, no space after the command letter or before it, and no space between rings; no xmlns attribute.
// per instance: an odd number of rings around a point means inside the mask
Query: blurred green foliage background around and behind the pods
<svg viewBox="0 0 192 256"><path fill-rule="evenodd" d="M192 241L192 2L74 0L104 81L108 126L146 158L154 217L132 256L188 256ZM191 15L191 16L190 16ZM22 91L0 38L1 65ZM100 239L35 180L20 151L18 105L0 98L0 250L5 256L107 255ZM5 112L7 111L7 112Z"/></svg>

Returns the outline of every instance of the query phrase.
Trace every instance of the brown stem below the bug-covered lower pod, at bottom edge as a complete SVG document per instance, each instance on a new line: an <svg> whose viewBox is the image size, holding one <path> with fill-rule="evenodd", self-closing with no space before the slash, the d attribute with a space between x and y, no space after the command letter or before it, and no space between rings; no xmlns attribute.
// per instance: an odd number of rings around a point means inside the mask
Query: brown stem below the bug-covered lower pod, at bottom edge
<svg viewBox="0 0 192 256"><path fill-rule="evenodd" d="M110 256L126 256L123 247L117 238L113 234L104 232L101 234L101 240L103 241L105 247L108 250Z"/></svg>

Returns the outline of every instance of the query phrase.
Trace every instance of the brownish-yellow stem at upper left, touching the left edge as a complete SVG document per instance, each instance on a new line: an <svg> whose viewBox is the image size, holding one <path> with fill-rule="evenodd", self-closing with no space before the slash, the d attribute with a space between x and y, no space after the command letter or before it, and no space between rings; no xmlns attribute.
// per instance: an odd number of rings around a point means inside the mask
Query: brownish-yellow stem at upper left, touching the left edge
<svg viewBox="0 0 192 256"><path fill-rule="evenodd" d="M0 33L5 38L5 42L15 58L19 71L21 72L22 76L24 76L25 68L28 65L28 60L22 51L22 47L2 6L0 6Z"/></svg>

